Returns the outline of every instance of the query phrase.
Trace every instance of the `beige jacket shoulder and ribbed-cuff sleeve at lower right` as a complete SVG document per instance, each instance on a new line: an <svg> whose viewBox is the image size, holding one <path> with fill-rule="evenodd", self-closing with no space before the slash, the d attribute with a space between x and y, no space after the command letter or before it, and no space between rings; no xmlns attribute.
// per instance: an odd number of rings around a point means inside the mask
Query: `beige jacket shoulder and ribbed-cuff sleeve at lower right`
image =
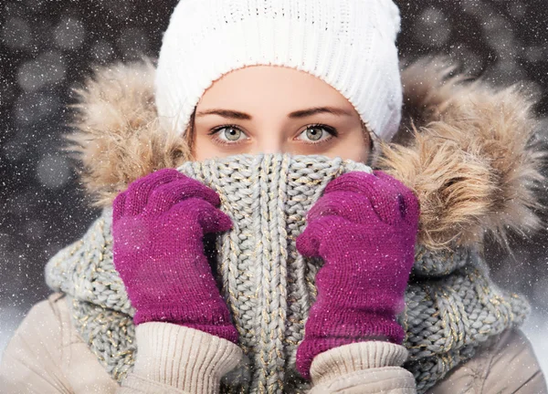
<svg viewBox="0 0 548 394"><path fill-rule="evenodd" d="M333 348L314 358L312 393L415 392L411 374L396 367L405 359L403 347L382 342ZM548 394L548 389L531 343L514 329L490 338L427 394Z"/></svg>

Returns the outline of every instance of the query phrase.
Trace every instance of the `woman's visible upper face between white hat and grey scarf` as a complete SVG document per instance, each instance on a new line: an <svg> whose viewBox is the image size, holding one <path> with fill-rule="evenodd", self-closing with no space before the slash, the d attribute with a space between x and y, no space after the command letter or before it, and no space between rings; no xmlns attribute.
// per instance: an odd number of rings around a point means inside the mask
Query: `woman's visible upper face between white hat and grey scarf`
<svg viewBox="0 0 548 394"><path fill-rule="evenodd" d="M232 71L205 91L190 138L196 161L239 153L321 154L366 161L369 136L353 105L289 67Z"/></svg>

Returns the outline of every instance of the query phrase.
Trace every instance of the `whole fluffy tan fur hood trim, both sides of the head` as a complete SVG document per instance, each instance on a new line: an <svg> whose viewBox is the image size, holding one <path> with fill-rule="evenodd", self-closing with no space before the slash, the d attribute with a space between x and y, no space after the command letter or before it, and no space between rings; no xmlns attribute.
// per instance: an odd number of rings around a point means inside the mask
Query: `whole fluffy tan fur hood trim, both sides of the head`
<svg viewBox="0 0 548 394"><path fill-rule="evenodd" d="M534 229L535 186L543 152L534 147L538 121L523 88L491 88L453 75L440 58L402 71L404 114L378 166L416 192L419 243L430 249L478 244L485 233L505 242L510 231ZM153 64L101 68L77 89L75 132L65 150L94 205L111 204L134 180L190 159L183 138L160 129Z"/></svg>

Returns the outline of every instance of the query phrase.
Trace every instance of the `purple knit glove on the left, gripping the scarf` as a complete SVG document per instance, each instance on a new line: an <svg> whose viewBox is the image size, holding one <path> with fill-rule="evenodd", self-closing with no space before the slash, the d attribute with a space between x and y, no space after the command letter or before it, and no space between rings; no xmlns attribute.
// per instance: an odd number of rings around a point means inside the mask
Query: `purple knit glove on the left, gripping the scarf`
<svg viewBox="0 0 548 394"><path fill-rule="evenodd" d="M214 190L174 169L142 177L116 197L113 260L135 325L170 322L237 342L202 241L232 226L219 204Z"/></svg>

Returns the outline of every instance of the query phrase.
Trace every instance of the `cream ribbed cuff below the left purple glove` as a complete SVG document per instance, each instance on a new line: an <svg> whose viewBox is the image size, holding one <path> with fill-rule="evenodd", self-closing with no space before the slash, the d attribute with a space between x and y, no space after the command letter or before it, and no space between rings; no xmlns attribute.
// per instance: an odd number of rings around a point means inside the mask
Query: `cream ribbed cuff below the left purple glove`
<svg viewBox="0 0 548 394"><path fill-rule="evenodd" d="M171 323L143 323L135 336L133 374L188 393L218 392L220 379L242 357L226 339Z"/></svg>

